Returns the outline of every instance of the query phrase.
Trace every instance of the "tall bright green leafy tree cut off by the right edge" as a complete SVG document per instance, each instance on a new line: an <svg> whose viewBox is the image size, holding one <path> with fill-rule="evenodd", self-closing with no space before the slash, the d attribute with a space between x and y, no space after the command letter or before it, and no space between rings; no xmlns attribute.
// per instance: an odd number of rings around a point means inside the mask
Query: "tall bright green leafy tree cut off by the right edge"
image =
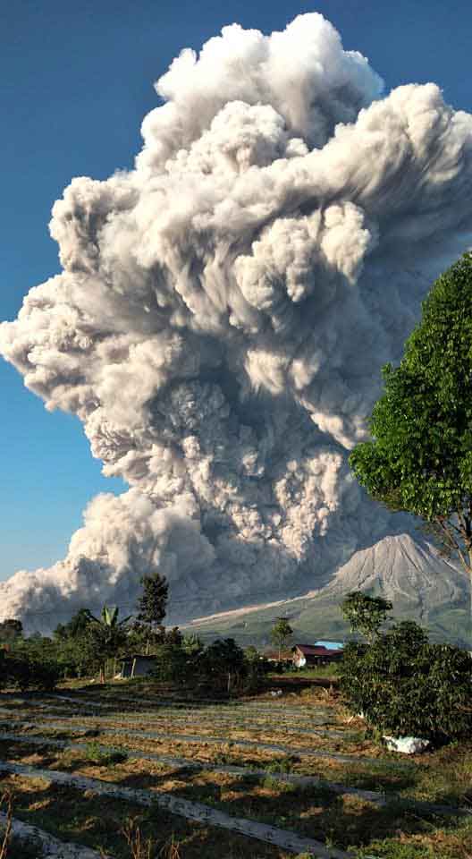
<svg viewBox="0 0 472 859"><path fill-rule="evenodd" d="M350 464L367 492L420 516L472 579L472 254L434 283Z"/></svg>

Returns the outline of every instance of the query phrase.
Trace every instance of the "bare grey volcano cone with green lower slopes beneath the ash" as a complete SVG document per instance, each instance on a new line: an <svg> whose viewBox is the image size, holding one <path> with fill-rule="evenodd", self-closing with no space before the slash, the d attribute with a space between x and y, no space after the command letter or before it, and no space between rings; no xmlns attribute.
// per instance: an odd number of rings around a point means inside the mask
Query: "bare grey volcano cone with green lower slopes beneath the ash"
<svg viewBox="0 0 472 859"><path fill-rule="evenodd" d="M393 603L392 614L426 626L431 637L470 646L468 576L431 544L409 534L385 537L356 552L318 591L221 615L198 618L190 628L205 638L231 635L241 643L266 643L274 618L290 618L295 637L307 641L348 633L340 604L350 591L365 591Z"/></svg>

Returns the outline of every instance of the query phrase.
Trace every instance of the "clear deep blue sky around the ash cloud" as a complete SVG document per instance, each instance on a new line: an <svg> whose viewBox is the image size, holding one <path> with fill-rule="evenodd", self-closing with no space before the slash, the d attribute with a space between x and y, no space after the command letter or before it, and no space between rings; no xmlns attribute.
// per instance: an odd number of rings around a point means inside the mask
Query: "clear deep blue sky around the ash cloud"
<svg viewBox="0 0 472 859"><path fill-rule="evenodd" d="M199 48L225 24L282 30L321 12L386 82L436 81L472 110L470 0L324 0L171 3L169 0L15 0L0 15L0 319L59 270L47 223L75 175L105 178L132 166L153 81L182 47ZM81 511L120 491L93 460L80 423L48 413L0 362L0 579L63 557Z"/></svg>

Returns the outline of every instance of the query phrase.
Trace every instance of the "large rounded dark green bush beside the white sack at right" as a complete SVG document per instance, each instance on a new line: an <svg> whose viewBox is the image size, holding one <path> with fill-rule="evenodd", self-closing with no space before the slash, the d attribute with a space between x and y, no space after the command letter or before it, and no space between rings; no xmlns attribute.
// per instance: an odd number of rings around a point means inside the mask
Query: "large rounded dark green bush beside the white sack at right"
<svg viewBox="0 0 472 859"><path fill-rule="evenodd" d="M443 742L472 728L472 659L451 644L429 643L411 621L372 644L348 644L341 689L350 710L395 736Z"/></svg>

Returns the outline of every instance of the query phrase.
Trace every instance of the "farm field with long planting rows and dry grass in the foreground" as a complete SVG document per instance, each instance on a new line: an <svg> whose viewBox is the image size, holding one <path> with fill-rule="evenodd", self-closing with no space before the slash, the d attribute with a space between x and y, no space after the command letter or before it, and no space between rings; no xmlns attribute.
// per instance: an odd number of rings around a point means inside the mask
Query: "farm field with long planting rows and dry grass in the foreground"
<svg viewBox="0 0 472 859"><path fill-rule="evenodd" d="M4 791L16 820L113 859L472 855L472 744L389 753L324 688L222 702L133 681L3 693Z"/></svg>

